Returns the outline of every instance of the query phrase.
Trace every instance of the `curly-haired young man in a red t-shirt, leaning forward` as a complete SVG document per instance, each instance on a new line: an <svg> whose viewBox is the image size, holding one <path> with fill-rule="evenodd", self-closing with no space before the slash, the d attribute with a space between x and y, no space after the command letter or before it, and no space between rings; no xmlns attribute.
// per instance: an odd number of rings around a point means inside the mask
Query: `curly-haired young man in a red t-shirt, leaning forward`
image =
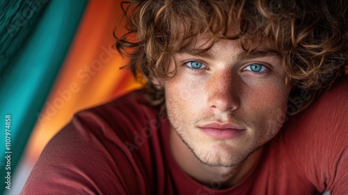
<svg viewBox="0 0 348 195"><path fill-rule="evenodd" d="M347 192L346 1L125 13L116 47L145 87L74 116L22 194Z"/></svg>

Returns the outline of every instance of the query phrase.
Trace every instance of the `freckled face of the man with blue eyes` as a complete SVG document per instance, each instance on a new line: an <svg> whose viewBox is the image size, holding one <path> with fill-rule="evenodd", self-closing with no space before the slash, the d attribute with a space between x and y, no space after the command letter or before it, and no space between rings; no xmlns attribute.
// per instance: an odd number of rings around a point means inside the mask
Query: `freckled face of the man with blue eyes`
<svg viewBox="0 0 348 195"><path fill-rule="evenodd" d="M290 86L267 44L247 55L239 40L219 40L205 54L175 54L175 65L164 83L168 119L203 164L236 166L283 125Z"/></svg>

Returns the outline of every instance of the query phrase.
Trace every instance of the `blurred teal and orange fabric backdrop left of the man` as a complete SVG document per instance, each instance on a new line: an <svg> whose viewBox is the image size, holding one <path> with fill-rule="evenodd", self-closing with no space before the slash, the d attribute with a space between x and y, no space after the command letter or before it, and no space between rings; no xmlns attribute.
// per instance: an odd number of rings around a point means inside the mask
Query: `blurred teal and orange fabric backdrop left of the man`
<svg viewBox="0 0 348 195"><path fill-rule="evenodd" d="M19 194L74 113L141 86L113 47L120 0L0 0L0 10L0 194Z"/></svg>

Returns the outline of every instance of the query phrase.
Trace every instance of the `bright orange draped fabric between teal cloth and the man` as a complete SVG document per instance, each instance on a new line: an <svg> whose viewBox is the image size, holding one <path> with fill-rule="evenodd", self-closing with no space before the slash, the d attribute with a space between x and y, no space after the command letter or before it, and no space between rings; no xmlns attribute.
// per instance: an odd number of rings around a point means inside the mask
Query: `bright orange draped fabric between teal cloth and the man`
<svg viewBox="0 0 348 195"><path fill-rule="evenodd" d="M115 42L113 30L122 26L118 20L121 16L120 1L88 3L54 88L42 112L36 114L38 122L27 148L31 162L38 159L47 141L75 112L140 87L131 72L120 70L127 59L111 48Z"/></svg>

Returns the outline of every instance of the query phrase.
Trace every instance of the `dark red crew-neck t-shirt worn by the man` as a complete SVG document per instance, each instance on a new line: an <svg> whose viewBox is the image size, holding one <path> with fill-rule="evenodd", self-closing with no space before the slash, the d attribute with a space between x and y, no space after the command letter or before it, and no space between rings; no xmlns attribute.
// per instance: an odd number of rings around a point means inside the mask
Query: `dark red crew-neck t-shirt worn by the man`
<svg viewBox="0 0 348 195"><path fill-rule="evenodd" d="M348 193L348 80L322 95L264 148L237 185L187 176L169 148L165 114L134 91L80 111L49 141L22 194Z"/></svg>

